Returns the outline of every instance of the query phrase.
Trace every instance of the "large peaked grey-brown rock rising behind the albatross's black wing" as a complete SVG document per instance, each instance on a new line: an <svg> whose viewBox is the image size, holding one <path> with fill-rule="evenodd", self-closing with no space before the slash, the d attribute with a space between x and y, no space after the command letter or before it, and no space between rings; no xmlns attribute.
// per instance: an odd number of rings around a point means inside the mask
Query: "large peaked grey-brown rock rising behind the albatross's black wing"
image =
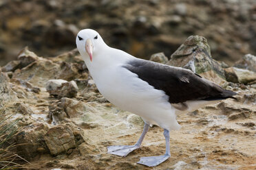
<svg viewBox="0 0 256 170"><path fill-rule="evenodd" d="M220 85L226 82L221 64L211 58L210 47L206 38L202 36L189 36L171 55L167 64L190 69Z"/></svg>

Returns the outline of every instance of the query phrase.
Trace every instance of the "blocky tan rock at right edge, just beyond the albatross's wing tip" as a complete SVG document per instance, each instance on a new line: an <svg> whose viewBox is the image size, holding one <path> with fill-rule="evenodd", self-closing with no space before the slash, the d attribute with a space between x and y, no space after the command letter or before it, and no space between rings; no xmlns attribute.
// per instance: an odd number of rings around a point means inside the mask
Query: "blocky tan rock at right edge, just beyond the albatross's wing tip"
<svg viewBox="0 0 256 170"><path fill-rule="evenodd" d="M253 71L238 69L236 67L230 67L224 69L224 71L228 82L248 84L256 81L256 73Z"/></svg>

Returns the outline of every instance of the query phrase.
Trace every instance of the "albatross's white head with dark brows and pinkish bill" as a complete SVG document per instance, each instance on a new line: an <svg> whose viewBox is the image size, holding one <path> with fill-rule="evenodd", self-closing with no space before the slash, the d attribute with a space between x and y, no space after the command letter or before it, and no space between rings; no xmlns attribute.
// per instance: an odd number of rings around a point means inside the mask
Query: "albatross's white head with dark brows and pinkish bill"
<svg viewBox="0 0 256 170"><path fill-rule="evenodd" d="M81 53L81 56L87 56L91 62L94 52L105 45L103 38L93 29L82 29L76 36L78 51Z"/></svg>

